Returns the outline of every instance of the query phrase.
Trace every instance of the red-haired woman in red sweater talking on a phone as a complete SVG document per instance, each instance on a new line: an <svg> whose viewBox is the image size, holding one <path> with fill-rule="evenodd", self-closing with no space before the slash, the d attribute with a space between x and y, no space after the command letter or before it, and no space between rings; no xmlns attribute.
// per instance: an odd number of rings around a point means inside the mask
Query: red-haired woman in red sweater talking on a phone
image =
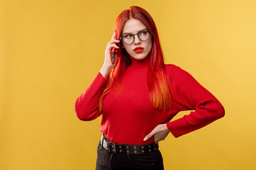
<svg viewBox="0 0 256 170"><path fill-rule="evenodd" d="M118 50L111 62L112 49ZM174 121L179 111L191 111ZM80 120L102 114L96 169L164 169L158 142L222 118L221 103L188 72L164 64L157 28L143 8L116 19L105 62L77 98Z"/></svg>

